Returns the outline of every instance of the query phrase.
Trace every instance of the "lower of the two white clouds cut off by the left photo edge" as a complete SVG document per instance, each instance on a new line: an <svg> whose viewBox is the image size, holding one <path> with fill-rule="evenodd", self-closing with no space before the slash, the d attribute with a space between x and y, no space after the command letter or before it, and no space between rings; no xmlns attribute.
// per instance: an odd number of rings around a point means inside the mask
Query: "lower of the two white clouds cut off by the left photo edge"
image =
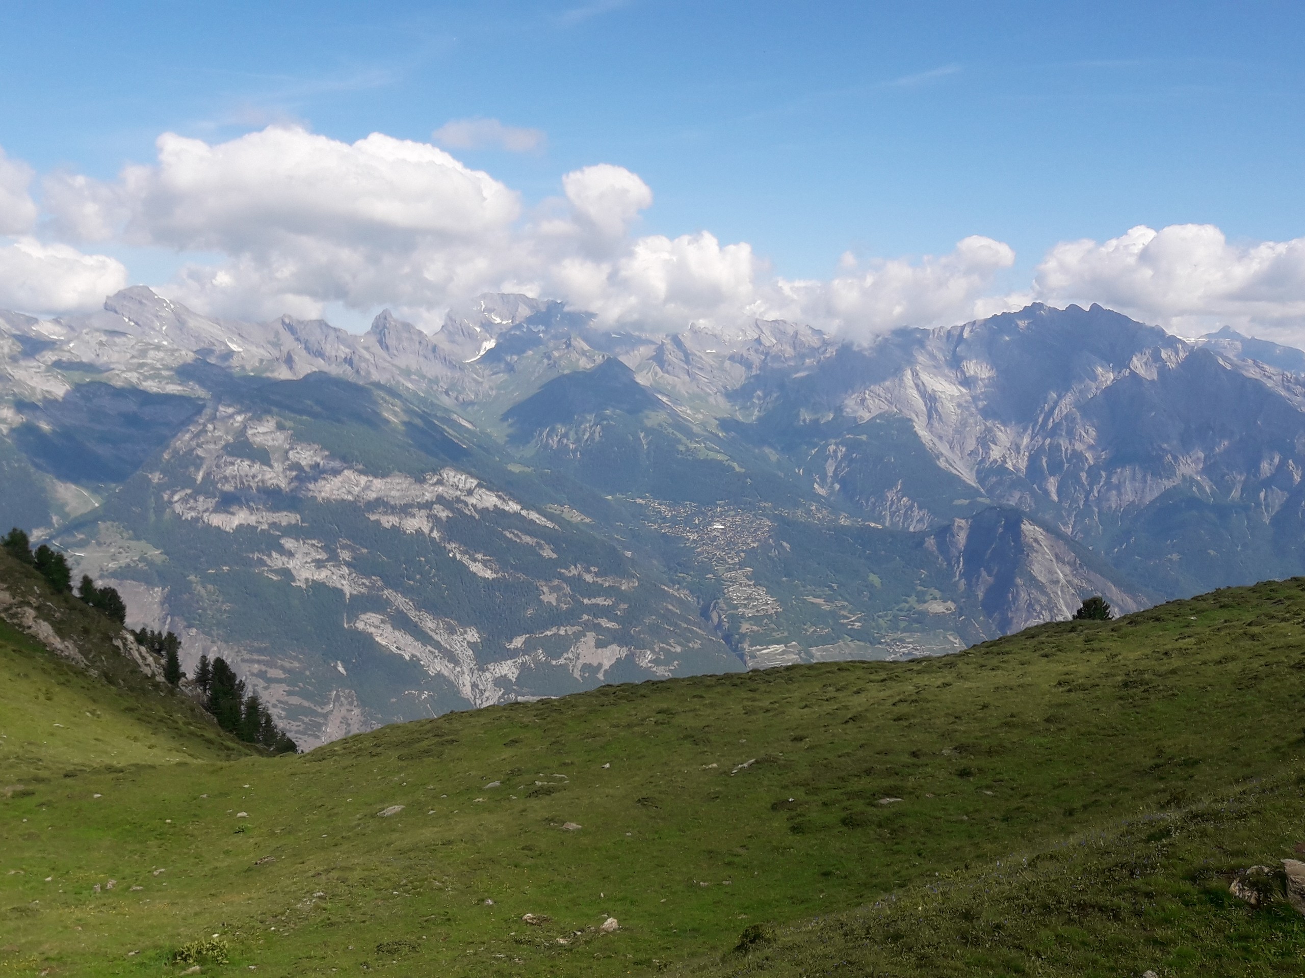
<svg viewBox="0 0 1305 978"><path fill-rule="evenodd" d="M0 246L0 308L31 313L97 309L127 286L127 269L103 254L82 254L31 237Z"/></svg>

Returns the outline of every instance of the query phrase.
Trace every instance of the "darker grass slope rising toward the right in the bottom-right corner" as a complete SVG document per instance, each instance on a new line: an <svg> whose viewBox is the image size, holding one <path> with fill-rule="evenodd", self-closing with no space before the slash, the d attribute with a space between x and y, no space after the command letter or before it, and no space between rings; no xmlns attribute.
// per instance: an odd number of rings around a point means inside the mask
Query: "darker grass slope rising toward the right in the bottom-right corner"
<svg viewBox="0 0 1305 978"><path fill-rule="evenodd" d="M1130 819L968 872L940 872L843 914L804 921L701 962L701 977L1276 975L1305 971L1305 919L1253 910L1238 868L1298 858L1305 773Z"/></svg>

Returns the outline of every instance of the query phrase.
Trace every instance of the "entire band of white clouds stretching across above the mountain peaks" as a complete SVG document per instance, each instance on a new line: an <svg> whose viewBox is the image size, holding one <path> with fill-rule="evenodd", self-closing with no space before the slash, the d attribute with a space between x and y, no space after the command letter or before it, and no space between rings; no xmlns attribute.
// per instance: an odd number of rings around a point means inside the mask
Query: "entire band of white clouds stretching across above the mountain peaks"
<svg viewBox="0 0 1305 978"><path fill-rule="evenodd" d="M521 149L530 132L455 120L435 138ZM997 288L1014 252L980 235L944 254L844 256L827 279L788 279L748 243L707 230L641 233L652 189L611 163L562 175L559 196L526 206L446 149L382 133L350 143L271 125L214 143L163 133L155 149L153 162L115 180L44 175L39 207L31 170L0 155L0 235L22 236L0 239L0 304L98 305L127 270L72 245L110 241L181 256L161 291L239 318L386 305L435 327L450 306L512 291L565 300L616 326L786 318L868 336L1037 299L1101 303L1186 334L1227 322L1305 340L1305 239L1241 245L1211 226L1137 227L1054 245L1014 295Z"/></svg>

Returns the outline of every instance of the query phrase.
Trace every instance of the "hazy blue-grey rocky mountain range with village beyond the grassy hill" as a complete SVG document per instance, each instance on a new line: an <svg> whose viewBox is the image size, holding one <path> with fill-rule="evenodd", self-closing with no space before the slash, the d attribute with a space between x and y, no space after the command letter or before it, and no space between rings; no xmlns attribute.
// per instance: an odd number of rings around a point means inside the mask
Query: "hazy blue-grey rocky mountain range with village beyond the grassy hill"
<svg viewBox="0 0 1305 978"><path fill-rule="evenodd" d="M855 346L525 296L355 335L132 288L0 313L0 522L312 743L1305 572L1302 361L1099 306Z"/></svg>

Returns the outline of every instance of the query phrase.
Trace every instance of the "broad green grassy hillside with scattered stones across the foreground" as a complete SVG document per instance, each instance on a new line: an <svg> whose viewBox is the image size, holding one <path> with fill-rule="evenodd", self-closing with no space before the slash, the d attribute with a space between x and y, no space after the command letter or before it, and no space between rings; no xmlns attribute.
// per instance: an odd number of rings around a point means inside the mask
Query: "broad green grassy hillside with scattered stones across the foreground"
<svg viewBox="0 0 1305 978"><path fill-rule="evenodd" d="M214 934L207 974L1295 968L1305 921L1219 874L1305 841L1302 631L1291 580L947 659L89 769L0 801L0 975L174 974Z"/></svg>

